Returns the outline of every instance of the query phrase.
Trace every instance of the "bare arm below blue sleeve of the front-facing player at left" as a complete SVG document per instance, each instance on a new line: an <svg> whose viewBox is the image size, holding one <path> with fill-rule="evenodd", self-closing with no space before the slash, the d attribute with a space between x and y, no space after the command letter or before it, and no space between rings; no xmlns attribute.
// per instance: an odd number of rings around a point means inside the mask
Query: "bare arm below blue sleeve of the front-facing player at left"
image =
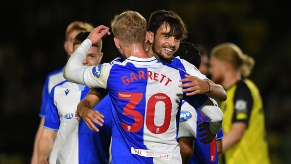
<svg viewBox="0 0 291 164"><path fill-rule="evenodd" d="M41 137L38 141L37 164L49 164L49 154L53 147L53 142L57 131L43 128Z"/></svg>

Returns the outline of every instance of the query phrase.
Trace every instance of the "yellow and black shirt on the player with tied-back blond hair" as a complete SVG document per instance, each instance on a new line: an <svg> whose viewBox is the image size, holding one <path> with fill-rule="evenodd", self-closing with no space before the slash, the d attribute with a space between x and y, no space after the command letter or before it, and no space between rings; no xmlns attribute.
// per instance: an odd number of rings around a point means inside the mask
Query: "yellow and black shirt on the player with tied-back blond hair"
<svg viewBox="0 0 291 164"><path fill-rule="evenodd" d="M245 122L247 129L234 147L219 156L220 164L270 164L259 89L254 82L242 79L228 88L226 94L226 101L219 103L224 114L224 133L238 121Z"/></svg>

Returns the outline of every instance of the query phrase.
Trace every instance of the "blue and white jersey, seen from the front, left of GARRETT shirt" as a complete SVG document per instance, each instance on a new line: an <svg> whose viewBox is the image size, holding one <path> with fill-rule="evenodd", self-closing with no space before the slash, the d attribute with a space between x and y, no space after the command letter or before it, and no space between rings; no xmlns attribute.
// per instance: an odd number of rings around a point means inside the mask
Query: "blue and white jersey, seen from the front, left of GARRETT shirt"
<svg viewBox="0 0 291 164"><path fill-rule="evenodd" d="M49 156L51 164L107 164L99 133L75 117L77 105L90 88L64 81L49 95L44 128L58 131ZM110 138L109 138L110 140Z"/></svg>

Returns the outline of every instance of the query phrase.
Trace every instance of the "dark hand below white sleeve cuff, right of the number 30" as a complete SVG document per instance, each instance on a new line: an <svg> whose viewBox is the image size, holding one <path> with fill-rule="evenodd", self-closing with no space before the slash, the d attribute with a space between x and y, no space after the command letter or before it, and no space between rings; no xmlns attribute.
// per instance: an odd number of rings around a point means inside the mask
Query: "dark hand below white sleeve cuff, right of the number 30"
<svg viewBox="0 0 291 164"><path fill-rule="evenodd" d="M210 131L210 123L203 121L202 123L197 125L197 128L199 128L198 131L201 132L201 134L199 135L199 137L202 138L200 142L202 142L203 144L210 144L216 136L216 134L213 134Z"/></svg>

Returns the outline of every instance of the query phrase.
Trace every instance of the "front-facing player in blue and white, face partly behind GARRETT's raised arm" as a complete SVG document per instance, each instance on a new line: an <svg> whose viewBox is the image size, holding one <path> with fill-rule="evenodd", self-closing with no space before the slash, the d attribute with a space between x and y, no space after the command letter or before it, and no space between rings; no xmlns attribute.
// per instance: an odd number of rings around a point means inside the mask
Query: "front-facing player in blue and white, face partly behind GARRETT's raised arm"
<svg viewBox="0 0 291 164"><path fill-rule="evenodd" d="M81 32L73 39L73 51L90 32ZM102 40L93 44L82 66L96 66L103 57ZM72 52L71 52L72 53ZM97 88L103 98L107 92ZM85 85L64 81L55 85L50 94L44 128L38 142L38 164L107 164L99 133L91 131L75 118L79 101L90 90ZM56 143L56 145L54 145Z"/></svg>

